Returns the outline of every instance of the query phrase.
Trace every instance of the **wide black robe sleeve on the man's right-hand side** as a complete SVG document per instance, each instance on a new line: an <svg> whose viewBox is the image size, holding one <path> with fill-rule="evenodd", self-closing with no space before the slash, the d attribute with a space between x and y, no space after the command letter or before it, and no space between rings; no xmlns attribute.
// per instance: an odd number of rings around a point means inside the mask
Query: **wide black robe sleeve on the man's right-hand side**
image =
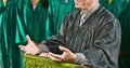
<svg viewBox="0 0 130 68"><path fill-rule="evenodd" d="M116 18L106 19L96 28L93 45L83 52L93 68L118 68L121 29Z"/></svg>

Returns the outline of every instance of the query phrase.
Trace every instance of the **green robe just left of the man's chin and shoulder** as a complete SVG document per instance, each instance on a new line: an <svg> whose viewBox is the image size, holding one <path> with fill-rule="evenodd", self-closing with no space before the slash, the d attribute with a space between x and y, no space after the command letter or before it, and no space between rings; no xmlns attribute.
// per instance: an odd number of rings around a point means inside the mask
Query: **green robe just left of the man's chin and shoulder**
<svg viewBox="0 0 130 68"><path fill-rule="evenodd" d="M52 37L58 32L62 21L65 15L75 10L74 0L49 0L49 17L47 19L48 37Z"/></svg>

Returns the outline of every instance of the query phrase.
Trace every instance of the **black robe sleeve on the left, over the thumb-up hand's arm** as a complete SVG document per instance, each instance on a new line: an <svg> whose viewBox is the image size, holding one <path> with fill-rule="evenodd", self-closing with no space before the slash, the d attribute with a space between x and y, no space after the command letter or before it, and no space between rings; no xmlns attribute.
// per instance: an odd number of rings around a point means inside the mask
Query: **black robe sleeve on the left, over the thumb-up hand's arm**
<svg viewBox="0 0 130 68"><path fill-rule="evenodd" d="M66 40L65 40L65 32L66 32L66 26L68 19L70 19L70 14L66 15L63 24L61 26L60 32L55 36L53 36L51 39L43 40L40 45L47 45L49 51L55 54L62 54L62 51L60 51L58 46L66 46Z"/></svg>

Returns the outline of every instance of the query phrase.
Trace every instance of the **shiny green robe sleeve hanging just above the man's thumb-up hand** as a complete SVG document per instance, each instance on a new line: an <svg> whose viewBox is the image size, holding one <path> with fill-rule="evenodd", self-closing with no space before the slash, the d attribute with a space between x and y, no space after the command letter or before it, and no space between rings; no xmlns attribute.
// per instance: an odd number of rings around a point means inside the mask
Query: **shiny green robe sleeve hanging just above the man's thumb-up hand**
<svg viewBox="0 0 130 68"><path fill-rule="evenodd" d="M15 43L25 43L26 42L26 3L28 0L18 0L16 8L16 39Z"/></svg>

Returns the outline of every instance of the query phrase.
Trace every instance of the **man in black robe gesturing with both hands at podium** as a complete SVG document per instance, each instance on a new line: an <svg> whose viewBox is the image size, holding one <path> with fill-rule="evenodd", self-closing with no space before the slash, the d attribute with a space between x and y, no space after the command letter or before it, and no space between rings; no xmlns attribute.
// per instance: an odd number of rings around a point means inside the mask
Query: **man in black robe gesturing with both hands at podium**
<svg viewBox="0 0 130 68"><path fill-rule="evenodd" d="M92 68L118 68L121 29L118 19L99 0L75 0L76 11L63 21L58 35L20 45L27 54Z"/></svg>

